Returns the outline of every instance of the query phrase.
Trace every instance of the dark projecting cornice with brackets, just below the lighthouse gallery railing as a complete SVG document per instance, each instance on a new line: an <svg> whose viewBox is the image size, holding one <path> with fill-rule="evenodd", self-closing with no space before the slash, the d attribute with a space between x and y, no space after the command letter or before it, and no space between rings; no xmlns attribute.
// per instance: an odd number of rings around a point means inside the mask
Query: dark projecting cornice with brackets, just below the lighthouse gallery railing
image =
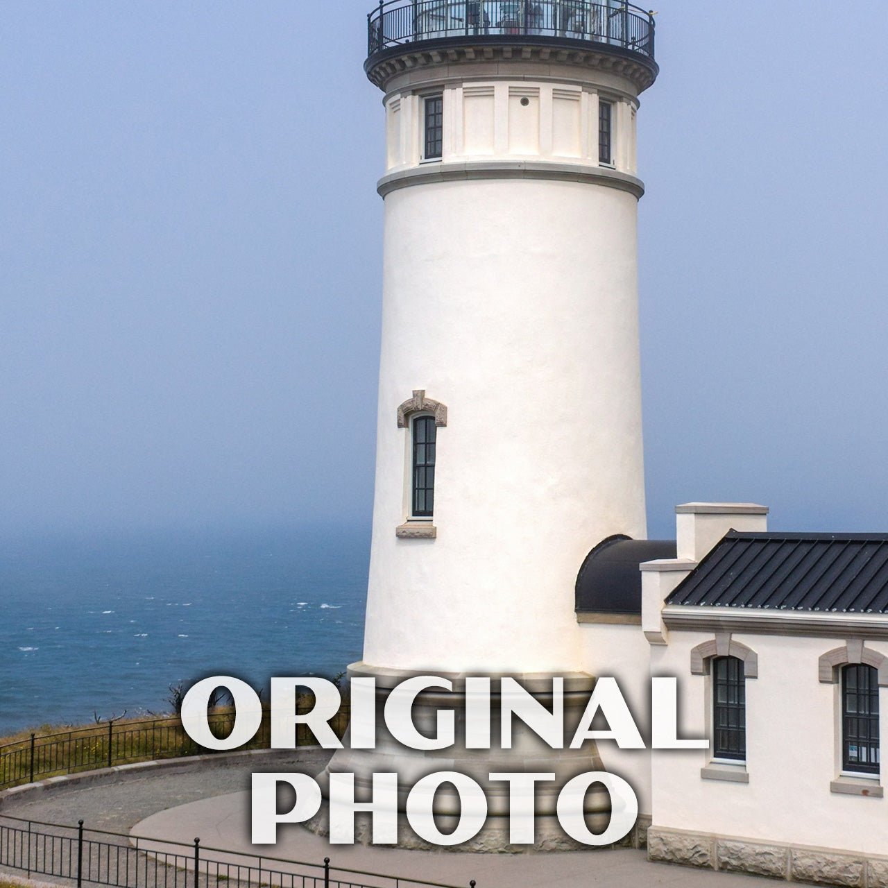
<svg viewBox="0 0 888 888"><path fill-rule="evenodd" d="M447 37L395 45L375 52L364 70L383 91L428 80L466 80L497 76L525 76L553 80L594 82L599 76L630 84L635 96L645 91L659 73L654 59L608 44L586 44L557 37L481 38Z"/></svg>

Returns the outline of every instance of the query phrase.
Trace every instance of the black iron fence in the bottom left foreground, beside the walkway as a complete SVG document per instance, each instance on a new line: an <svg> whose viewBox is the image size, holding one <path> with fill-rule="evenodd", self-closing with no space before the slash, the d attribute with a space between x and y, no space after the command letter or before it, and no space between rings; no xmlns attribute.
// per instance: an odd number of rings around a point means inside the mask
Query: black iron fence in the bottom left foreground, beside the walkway
<svg viewBox="0 0 888 888"><path fill-rule="evenodd" d="M322 863L23 821L0 815L0 866L30 876L113 888L459 888ZM470 882L470 888L475 885Z"/></svg>

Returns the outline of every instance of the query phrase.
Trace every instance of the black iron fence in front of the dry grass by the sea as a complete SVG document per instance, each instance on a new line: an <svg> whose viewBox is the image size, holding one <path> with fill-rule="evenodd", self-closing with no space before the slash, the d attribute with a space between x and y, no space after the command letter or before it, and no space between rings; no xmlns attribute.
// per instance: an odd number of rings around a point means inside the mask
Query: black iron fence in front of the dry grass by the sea
<svg viewBox="0 0 888 888"><path fill-rule="evenodd" d="M300 708L300 712L307 712ZM234 726L234 712L210 714L210 730L226 737ZM342 737L348 726L349 708L345 704L331 726ZM297 726L297 745L315 742L305 725ZM269 749L271 727L267 712L256 736L240 749ZM114 765L128 765L160 758L199 756L203 749L182 728L178 718L143 718L137 721L110 721L107 724L72 728L69 731L37 735L0 746L0 789L20 783L33 783L59 774L91 771Z"/></svg>

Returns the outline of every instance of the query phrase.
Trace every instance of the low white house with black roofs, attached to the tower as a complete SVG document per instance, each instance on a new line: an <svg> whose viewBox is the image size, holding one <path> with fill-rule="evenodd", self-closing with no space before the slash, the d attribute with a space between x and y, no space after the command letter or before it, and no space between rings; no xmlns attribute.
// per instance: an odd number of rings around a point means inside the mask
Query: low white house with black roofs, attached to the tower
<svg viewBox="0 0 888 888"><path fill-rule="evenodd" d="M888 885L888 534L768 533L745 503L677 512L676 543L606 540L576 588L590 670L615 665L630 693L643 657L678 676L680 735L711 741L655 750L647 780L637 754L599 746L651 812L650 857Z"/></svg>

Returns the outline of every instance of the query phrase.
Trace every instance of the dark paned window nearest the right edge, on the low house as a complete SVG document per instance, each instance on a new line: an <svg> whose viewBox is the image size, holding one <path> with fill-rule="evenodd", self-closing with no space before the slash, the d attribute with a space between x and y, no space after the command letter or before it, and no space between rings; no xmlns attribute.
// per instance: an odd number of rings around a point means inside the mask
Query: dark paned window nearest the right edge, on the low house
<svg viewBox="0 0 888 888"><path fill-rule="evenodd" d="M878 670L865 663L842 667L842 768L879 773Z"/></svg>

